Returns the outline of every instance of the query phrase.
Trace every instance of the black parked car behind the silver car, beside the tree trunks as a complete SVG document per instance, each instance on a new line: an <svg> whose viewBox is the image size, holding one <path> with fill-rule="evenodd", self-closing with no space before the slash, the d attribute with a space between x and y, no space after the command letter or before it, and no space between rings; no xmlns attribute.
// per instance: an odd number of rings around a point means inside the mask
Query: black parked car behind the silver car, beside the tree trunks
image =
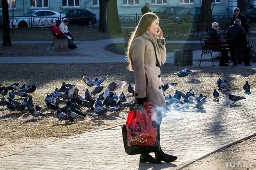
<svg viewBox="0 0 256 170"><path fill-rule="evenodd" d="M70 25L94 26L97 23L96 14L85 9L66 9L60 13L66 15Z"/></svg>

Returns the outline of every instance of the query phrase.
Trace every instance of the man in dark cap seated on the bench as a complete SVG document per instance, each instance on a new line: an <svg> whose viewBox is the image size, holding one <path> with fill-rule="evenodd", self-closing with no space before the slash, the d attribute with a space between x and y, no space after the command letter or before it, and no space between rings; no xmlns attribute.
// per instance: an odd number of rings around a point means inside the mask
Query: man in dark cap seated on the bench
<svg viewBox="0 0 256 170"><path fill-rule="evenodd" d="M219 24L214 22L212 23L211 29L207 32L207 36L217 36L217 30L219 28ZM216 37L218 39L218 37ZM228 51L227 50L221 50L221 57L220 57L220 66L228 66L226 63L230 63L228 61Z"/></svg>

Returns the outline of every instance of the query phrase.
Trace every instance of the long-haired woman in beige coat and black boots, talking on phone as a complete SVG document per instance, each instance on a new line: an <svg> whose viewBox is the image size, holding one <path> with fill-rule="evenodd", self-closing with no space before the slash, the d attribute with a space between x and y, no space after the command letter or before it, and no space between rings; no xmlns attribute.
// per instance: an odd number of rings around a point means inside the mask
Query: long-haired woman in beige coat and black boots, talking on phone
<svg viewBox="0 0 256 170"><path fill-rule="evenodd" d="M159 33L159 34L158 34ZM128 60L130 71L135 77L135 103L152 102L157 113L159 127L161 112L166 109L166 102L161 89L161 65L166 61L166 48L159 19L154 13L146 13L140 19L128 42ZM176 156L165 154L160 147L155 152L156 158L147 154L140 155L140 162L173 162Z"/></svg>

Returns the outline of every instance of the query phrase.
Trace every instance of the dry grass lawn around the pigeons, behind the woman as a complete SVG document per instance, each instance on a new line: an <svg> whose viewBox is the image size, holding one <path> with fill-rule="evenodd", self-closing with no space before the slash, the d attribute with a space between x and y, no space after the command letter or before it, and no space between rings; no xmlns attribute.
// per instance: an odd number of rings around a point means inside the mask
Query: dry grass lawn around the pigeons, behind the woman
<svg viewBox="0 0 256 170"><path fill-rule="evenodd" d="M11 114L6 107L0 107L0 156L45 142L125 123L128 109L116 113L108 112L102 119L87 117L84 121L66 124L64 121L58 121L56 114L50 113L44 103L44 98L56 87L60 88L62 82L76 84L79 88L79 94L84 96L88 86L83 82L81 76L85 73L92 79L108 75L108 78L102 83L104 89L113 81L126 80L127 85L122 91L128 96L128 101L133 100L133 97L127 91L128 84L134 86L133 72L126 70L126 65L126 63L1 64L0 82L4 86L19 82L19 87L24 83L27 85L35 84L37 90L32 94L34 104L41 105L42 111L47 116L37 118L28 112ZM192 73L186 77L178 77L171 75L171 73L183 70L185 67L171 64L163 65L161 75L163 84L178 83L175 88L168 89L166 95L174 94L176 89L187 92L192 88L196 95L203 93L208 96L208 99L213 99L212 93L214 88L217 87L216 81L219 77L226 79L229 83L227 90L220 92L220 96L242 91L242 86L246 80L248 80L251 88L256 86L256 70L253 69L190 68L187 66L186 68L202 69L203 71ZM89 90L92 91L93 88L89 88ZM118 92L118 95L120 94L121 91ZM19 96L16 96L15 99L23 100ZM92 113L92 110L82 108L85 114Z"/></svg>

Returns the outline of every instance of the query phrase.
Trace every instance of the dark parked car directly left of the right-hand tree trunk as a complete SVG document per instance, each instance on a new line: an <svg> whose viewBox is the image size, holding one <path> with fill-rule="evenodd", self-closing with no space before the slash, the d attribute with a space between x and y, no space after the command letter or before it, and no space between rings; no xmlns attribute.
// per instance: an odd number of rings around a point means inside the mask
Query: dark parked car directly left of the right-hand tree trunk
<svg viewBox="0 0 256 170"><path fill-rule="evenodd" d="M191 22L195 23L199 21L199 15L201 12L201 7L187 7L180 10L176 15L177 23Z"/></svg>

